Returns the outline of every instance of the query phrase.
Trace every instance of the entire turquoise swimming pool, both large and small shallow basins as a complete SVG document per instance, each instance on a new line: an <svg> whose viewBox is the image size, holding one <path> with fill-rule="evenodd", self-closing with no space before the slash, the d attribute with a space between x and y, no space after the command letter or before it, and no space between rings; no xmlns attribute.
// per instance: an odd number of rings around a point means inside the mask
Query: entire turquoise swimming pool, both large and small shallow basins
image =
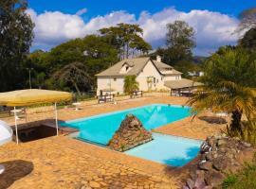
<svg viewBox="0 0 256 189"><path fill-rule="evenodd" d="M192 115L190 107L152 104L120 112L104 113L97 116L66 121L62 127L79 129L76 138L106 146L121 121L129 113L137 116L145 129L155 129ZM136 156L156 163L182 166L189 163L198 153L201 141L153 133L154 140L130 149L125 154Z"/></svg>

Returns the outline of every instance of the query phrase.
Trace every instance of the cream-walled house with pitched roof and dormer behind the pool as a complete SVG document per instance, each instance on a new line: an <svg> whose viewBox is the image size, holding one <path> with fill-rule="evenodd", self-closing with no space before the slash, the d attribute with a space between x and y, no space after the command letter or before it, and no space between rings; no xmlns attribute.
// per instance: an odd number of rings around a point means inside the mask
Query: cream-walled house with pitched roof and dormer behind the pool
<svg viewBox="0 0 256 189"><path fill-rule="evenodd" d="M181 77L182 73L174 67L165 64L157 56L121 60L112 67L104 70L97 77L97 94L123 94L124 77L136 76L139 91L170 90L173 85L192 86L192 80ZM171 82L172 81L172 82Z"/></svg>

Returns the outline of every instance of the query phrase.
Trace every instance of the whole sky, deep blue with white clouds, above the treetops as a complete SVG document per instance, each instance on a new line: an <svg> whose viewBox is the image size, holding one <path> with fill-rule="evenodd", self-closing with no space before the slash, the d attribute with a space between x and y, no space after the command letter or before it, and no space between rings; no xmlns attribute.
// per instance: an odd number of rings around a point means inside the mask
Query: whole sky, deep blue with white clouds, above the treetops
<svg viewBox="0 0 256 189"><path fill-rule="evenodd" d="M197 55L235 44L237 37L231 33L237 16L243 9L256 6L254 0L28 0L28 4L36 25L33 49L48 50L119 22L139 24L145 40L156 48L164 46L166 24L184 20L196 30Z"/></svg>

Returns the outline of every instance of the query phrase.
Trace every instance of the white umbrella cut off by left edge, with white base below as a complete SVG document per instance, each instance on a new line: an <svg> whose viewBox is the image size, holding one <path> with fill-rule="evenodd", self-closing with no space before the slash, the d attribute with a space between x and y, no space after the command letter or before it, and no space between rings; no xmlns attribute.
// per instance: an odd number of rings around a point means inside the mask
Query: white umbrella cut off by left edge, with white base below
<svg viewBox="0 0 256 189"><path fill-rule="evenodd" d="M12 139L12 129L6 122L0 120L0 146L10 142ZM0 164L0 174L5 171L5 166Z"/></svg>

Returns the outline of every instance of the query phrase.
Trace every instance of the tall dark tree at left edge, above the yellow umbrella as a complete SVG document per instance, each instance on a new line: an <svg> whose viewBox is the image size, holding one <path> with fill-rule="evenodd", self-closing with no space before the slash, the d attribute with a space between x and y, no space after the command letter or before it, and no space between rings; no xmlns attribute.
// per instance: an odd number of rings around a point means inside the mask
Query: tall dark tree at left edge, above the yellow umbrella
<svg viewBox="0 0 256 189"><path fill-rule="evenodd" d="M22 64L33 39L26 0L0 1L0 91L24 88Z"/></svg>

